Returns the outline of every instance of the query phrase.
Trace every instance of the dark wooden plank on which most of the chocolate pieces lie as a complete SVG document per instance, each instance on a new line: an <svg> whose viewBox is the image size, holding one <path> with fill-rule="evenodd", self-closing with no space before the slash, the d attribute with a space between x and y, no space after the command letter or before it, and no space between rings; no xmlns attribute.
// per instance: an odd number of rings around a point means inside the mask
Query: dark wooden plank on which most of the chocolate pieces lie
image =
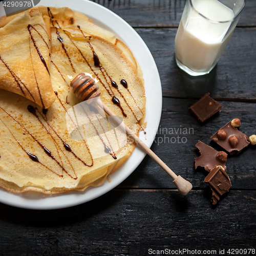
<svg viewBox="0 0 256 256"><path fill-rule="evenodd" d="M248 137L255 134L256 104L220 101L222 111L201 124L187 110L195 102L196 100L163 98L161 122L151 148L177 175L187 178L194 188L206 188L208 186L204 178L208 172L204 169L195 170L194 167L195 158L199 157L195 145L201 140L222 151L220 146L211 142L210 137L233 118L241 119L241 132ZM239 155L228 156L226 172L232 189L256 189L255 151L256 146L249 145ZM148 156L119 187L175 188L172 179Z"/></svg>

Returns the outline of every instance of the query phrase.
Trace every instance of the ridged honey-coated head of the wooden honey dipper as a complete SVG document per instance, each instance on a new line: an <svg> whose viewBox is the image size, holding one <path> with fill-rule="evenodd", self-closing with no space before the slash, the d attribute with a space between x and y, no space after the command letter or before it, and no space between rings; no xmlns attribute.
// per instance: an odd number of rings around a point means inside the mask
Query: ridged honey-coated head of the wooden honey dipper
<svg viewBox="0 0 256 256"><path fill-rule="evenodd" d="M80 73L70 83L70 86L80 100L88 100L100 95L99 86L88 75Z"/></svg>

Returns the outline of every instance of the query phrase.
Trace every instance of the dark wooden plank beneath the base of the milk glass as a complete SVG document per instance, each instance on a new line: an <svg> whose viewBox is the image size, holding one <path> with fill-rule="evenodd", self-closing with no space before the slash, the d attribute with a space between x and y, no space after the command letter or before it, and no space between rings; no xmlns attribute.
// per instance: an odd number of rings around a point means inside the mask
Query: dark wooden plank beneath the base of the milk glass
<svg viewBox="0 0 256 256"><path fill-rule="evenodd" d="M255 2L256 3L256 2ZM219 60L207 76L191 77L175 61L177 29L136 29L150 49L161 77L163 96L251 99L256 102L256 28L236 28Z"/></svg>

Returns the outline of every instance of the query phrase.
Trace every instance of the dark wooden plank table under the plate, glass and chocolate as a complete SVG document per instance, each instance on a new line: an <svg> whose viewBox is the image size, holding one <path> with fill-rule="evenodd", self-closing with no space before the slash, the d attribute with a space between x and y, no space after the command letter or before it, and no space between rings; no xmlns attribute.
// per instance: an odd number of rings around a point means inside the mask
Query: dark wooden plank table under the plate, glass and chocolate
<svg viewBox="0 0 256 256"><path fill-rule="evenodd" d="M140 34L160 73L163 108L160 129L187 127L186 143L158 143L152 150L187 178L193 190L181 196L172 180L149 157L109 193L71 208L27 210L0 204L1 255L159 255L153 250L208 251L256 249L256 146L228 157L232 186L216 206L204 178L195 170L195 144L214 146L210 136L229 120L242 121L240 131L256 134L256 1L247 0L238 27L210 75L192 78L176 66L174 39L185 0L99 0ZM210 92L223 105L199 124L187 111ZM166 131L166 130L161 130ZM177 135L166 135L171 139ZM194 250L194 251L193 251ZM239 253L236 255L252 255ZM157 253L157 251L155 251ZM159 253L161 253L159 251ZM162 252L163 254L163 252ZM183 253L189 255L189 253Z"/></svg>

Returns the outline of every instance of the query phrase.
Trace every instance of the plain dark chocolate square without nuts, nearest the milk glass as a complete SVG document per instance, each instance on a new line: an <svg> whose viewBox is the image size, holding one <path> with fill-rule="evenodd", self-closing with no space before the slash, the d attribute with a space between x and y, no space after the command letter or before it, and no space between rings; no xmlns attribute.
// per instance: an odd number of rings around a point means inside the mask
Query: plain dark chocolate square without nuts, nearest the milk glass
<svg viewBox="0 0 256 256"><path fill-rule="evenodd" d="M209 95L206 93L203 98L188 108L189 113L199 122L204 122L222 109L222 105Z"/></svg>

